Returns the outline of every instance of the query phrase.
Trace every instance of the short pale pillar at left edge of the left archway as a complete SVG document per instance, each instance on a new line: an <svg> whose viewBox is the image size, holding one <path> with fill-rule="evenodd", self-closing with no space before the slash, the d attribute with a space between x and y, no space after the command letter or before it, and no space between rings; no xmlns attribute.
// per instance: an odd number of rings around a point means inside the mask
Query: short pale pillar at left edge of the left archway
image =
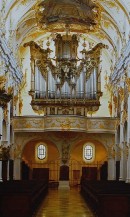
<svg viewBox="0 0 130 217"><path fill-rule="evenodd" d="M21 179L21 158L14 159L14 180Z"/></svg>

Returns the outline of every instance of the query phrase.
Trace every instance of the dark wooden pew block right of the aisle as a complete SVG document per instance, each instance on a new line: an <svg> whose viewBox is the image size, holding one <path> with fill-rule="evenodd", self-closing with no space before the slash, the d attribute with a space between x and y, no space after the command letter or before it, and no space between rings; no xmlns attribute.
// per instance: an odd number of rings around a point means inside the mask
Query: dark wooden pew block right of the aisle
<svg viewBox="0 0 130 217"><path fill-rule="evenodd" d="M81 193L97 217L130 216L129 184L82 179Z"/></svg>

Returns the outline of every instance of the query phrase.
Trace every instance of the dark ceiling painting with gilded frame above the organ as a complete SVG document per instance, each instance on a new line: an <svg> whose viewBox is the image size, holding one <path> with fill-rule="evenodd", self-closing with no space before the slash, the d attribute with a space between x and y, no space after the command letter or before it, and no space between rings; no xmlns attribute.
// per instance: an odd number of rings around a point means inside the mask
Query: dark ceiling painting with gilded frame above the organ
<svg viewBox="0 0 130 217"><path fill-rule="evenodd" d="M92 0L44 0L36 6L36 18L40 29L55 30L65 23L73 24L72 31L78 26L93 31L99 26L101 11Z"/></svg>

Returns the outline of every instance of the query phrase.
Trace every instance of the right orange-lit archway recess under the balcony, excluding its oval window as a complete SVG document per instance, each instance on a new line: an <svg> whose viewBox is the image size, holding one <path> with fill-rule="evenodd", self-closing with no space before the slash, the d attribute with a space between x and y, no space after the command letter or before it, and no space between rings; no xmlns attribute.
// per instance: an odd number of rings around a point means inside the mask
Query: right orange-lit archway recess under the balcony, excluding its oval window
<svg viewBox="0 0 130 217"><path fill-rule="evenodd" d="M94 159L84 160L84 147L87 144L94 146ZM80 184L81 176L86 176L88 180L107 179L107 150L103 144L97 140L85 139L76 143L71 150L70 157L70 183Z"/></svg>

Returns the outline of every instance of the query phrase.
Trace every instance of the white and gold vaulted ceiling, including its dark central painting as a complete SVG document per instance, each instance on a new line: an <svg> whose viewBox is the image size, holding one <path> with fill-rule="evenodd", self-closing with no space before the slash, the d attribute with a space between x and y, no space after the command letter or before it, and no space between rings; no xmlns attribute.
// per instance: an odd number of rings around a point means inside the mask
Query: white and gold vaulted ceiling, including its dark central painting
<svg viewBox="0 0 130 217"><path fill-rule="evenodd" d="M110 64L120 57L130 36L130 0L10 0L4 1L7 37L15 34L15 49L69 30L90 43L102 42Z"/></svg>

